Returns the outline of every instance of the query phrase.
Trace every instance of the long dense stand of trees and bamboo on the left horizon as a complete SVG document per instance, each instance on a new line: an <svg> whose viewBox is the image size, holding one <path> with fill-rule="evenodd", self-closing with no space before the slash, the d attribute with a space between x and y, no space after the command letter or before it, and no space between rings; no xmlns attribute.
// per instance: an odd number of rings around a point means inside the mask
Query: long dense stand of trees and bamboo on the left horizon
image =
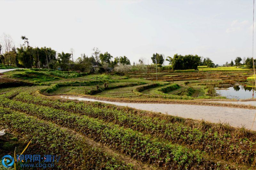
<svg viewBox="0 0 256 170"><path fill-rule="evenodd" d="M115 57L108 53L100 53L96 47L92 49L90 57L81 54L74 61L74 49L70 53L57 53L51 47L32 47L29 45L29 39L21 36L24 44L16 48L10 35L3 34L2 43L0 43L0 65L24 67L24 68L48 68L60 70L79 70L81 72L105 72L109 67L117 65L131 65L126 56ZM96 67L94 67L96 66Z"/></svg>

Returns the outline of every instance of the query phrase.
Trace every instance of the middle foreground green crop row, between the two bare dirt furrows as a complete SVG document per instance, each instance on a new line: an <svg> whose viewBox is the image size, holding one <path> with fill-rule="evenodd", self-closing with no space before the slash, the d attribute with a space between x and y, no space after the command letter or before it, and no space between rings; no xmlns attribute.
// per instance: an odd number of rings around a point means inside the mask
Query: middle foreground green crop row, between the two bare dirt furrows
<svg viewBox="0 0 256 170"><path fill-rule="evenodd" d="M161 167L188 168L210 164L203 159L200 151L192 151L167 141L161 142L152 139L150 135L131 129L124 129L118 125L104 123L95 118L77 116L63 110L49 107L36 106L35 104L22 103L1 97L0 104L4 107L20 110L29 115L52 121L67 128L73 128L101 143L108 144L111 148L124 152L143 162L156 164Z"/></svg>

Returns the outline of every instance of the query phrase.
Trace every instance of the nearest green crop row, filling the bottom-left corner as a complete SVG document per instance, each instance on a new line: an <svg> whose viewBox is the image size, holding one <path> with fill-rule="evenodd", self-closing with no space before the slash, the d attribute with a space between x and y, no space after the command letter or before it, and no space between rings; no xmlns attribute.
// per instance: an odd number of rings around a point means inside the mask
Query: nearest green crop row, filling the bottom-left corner
<svg viewBox="0 0 256 170"><path fill-rule="evenodd" d="M17 111L0 107L0 125L32 143L24 154L52 154L60 156L55 169L132 169L131 165L116 160L101 149L87 145L83 139ZM11 151L14 152L14 151Z"/></svg>

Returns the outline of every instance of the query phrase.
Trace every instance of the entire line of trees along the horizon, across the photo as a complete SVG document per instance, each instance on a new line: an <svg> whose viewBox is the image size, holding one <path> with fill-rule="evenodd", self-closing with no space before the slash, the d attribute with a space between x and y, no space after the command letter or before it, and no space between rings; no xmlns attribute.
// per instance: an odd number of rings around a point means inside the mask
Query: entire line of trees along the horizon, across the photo
<svg viewBox="0 0 256 170"><path fill-rule="evenodd" d="M24 44L16 48L13 45L13 40L10 35L3 34L2 43L0 43L0 65L4 66L15 66L24 68L48 68L48 69L60 69L60 70L79 70L81 72L99 72L103 73L108 71L110 68L115 70L124 70L127 72L131 69L131 62L126 56L113 57L110 53L101 51L94 47L92 48L92 55L81 54L74 61L73 53L74 49L70 49L70 53L57 53L51 47L32 47L29 45L29 39L26 36L21 36ZM175 54L173 57L167 57L165 59L164 54L153 53L151 60L153 64L163 65L164 61L168 61L172 67L172 70L185 70L195 69L198 66L207 67L218 67L218 64L214 64L208 57L204 58L198 55L178 55ZM243 64L249 68L253 67L252 58L245 58L242 60L241 57L231 60L230 63L226 62L224 66L240 66ZM139 63L133 67L144 68L144 59L140 59ZM139 69L140 70L140 69Z"/></svg>

